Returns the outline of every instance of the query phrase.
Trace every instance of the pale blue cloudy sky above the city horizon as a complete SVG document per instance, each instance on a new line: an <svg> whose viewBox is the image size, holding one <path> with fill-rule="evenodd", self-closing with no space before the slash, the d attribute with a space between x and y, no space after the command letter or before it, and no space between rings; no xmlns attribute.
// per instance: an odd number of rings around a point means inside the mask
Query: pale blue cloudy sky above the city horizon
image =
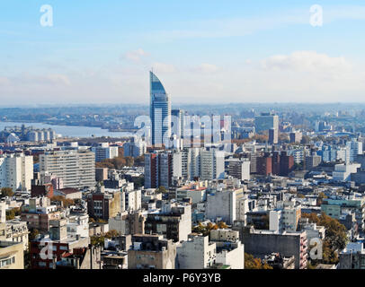
<svg viewBox="0 0 365 287"><path fill-rule="evenodd" d="M173 103L363 102L364 30L356 0L1 1L0 105L148 104L151 68Z"/></svg>

